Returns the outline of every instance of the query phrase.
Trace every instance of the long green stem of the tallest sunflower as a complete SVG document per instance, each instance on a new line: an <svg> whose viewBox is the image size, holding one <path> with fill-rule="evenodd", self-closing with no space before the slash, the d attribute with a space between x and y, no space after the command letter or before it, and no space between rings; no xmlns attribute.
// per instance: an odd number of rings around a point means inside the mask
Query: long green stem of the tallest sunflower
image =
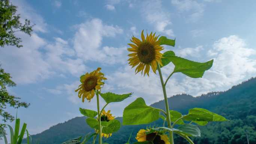
<svg viewBox="0 0 256 144"><path fill-rule="evenodd" d="M167 94L166 94L166 90L165 90L164 80L163 80L163 76L162 76L162 72L161 72L161 68L160 68L159 63L157 63L157 69L158 69L158 73L159 73L159 77L160 77L160 80L161 80L162 89L163 89L163 93L164 93L165 109L166 109L166 114L167 114L166 115L166 120L167 120L168 128L171 128L171 119L170 119L170 111L169 111L168 99L167 99ZM171 144L174 144L173 132L169 131L169 135L170 135L170 142L171 142Z"/></svg>

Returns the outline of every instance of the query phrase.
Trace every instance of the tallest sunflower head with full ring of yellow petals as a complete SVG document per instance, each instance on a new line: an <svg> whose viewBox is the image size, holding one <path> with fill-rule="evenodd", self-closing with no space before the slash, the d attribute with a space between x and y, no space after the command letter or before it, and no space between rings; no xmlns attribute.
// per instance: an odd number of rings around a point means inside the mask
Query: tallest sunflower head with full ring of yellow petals
<svg viewBox="0 0 256 144"><path fill-rule="evenodd" d="M157 62L162 65L162 53L163 50L162 46L159 46L159 36L155 36L156 33L152 35L152 32L148 35L145 39L143 30L141 31L141 40L137 39L136 37L132 36L131 43L128 43L131 48L127 50L130 53L128 56L131 58L128 59L129 65L132 65L132 68L138 65L135 69L135 73L141 71L141 74L144 70L144 76L147 74L149 76L150 66L154 73L156 73Z"/></svg>

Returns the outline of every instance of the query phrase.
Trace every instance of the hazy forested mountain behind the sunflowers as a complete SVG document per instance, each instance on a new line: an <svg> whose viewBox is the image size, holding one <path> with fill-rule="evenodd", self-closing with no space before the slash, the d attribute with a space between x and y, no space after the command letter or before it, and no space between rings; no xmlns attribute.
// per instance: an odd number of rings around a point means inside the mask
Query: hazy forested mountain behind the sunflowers
<svg viewBox="0 0 256 144"><path fill-rule="evenodd" d="M249 79L240 85L233 86L225 92L210 92L198 97L187 94L175 95L168 98L170 108L188 113L190 108L206 108L214 113L225 116L228 122L211 122L207 126L199 126L201 137L192 138L195 144L247 144L247 135L250 144L256 144L256 78ZM155 102L151 106L164 107L164 101ZM93 130L86 125L86 117L75 117L64 123L52 126L40 134L32 135L32 140L40 141L40 144L61 144L71 138L85 135ZM118 117L122 122L122 117ZM159 119L150 124L162 126ZM103 139L109 144L124 144L132 132L131 143L139 129L149 125L122 126L112 137ZM175 136L175 144L188 144L183 138Z"/></svg>

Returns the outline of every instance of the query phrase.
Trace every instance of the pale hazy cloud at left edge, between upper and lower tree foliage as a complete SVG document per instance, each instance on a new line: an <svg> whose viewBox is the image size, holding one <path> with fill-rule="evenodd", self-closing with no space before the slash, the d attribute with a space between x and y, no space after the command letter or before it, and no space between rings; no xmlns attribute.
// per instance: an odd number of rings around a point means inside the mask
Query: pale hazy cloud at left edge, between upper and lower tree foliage
<svg viewBox="0 0 256 144"><path fill-rule="evenodd" d="M45 40L35 33L31 37L23 33L17 33L17 36L22 37L23 47L6 46L0 49L2 67L18 84L36 83L46 79L51 74L50 65L43 60L43 55L39 52L39 49L46 45Z"/></svg>

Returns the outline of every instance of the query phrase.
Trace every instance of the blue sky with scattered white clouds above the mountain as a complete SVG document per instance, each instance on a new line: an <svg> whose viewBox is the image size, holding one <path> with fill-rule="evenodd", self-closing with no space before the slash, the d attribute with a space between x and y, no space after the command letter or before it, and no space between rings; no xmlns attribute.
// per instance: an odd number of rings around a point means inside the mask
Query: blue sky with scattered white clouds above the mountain
<svg viewBox="0 0 256 144"><path fill-rule="evenodd" d="M164 51L198 62L214 59L203 78L174 74L168 96L225 91L256 76L254 0L11 1L22 21L36 24L31 37L17 33L24 47L0 49L1 67L17 83L8 91L31 104L18 110L31 134L81 116L79 107L96 110L95 98L82 103L74 90L80 75L97 67L108 78L103 92L134 92L106 107L114 116L122 116L124 107L138 97L147 104L163 99L158 75L135 75L127 64L127 43L143 29L176 38L175 48L166 46ZM163 68L165 78L173 68Z"/></svg>

